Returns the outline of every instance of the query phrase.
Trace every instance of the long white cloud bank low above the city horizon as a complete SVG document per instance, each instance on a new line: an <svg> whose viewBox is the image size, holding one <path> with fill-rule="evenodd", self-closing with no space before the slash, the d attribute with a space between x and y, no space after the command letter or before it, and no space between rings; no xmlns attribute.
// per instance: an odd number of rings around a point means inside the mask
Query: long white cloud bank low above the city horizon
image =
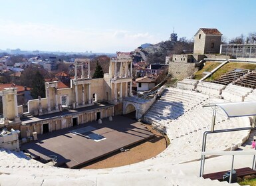
<svg viewBox="0 0 256 186"><path fill-rule="evenodd" d="M125 30L62 28L37 23L0 20L0 48L84 52L130 51L143 43L156 43L149 33Z"/></svg>

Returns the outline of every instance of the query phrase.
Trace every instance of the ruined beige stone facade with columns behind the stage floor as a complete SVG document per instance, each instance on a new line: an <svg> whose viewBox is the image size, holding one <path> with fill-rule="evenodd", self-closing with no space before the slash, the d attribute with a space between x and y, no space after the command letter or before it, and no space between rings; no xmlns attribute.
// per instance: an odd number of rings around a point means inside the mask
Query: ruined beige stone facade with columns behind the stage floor
<svg viewBox="0 0 256 186"><path fill-rule="evenodd" d="M131 85L132 56L128 53L118 52L111 58L109 73L98 79L90 76L90 60L76 59L70 87L58 88L58 82L46 82L46 98L29 100L27 113L17 105L17 88L1 91L4 110L0 129L20 130L21 139L31 139L35 132L45 134L122 114L122 109L116 108L122 108L122 100L132 96Z"/></svg>

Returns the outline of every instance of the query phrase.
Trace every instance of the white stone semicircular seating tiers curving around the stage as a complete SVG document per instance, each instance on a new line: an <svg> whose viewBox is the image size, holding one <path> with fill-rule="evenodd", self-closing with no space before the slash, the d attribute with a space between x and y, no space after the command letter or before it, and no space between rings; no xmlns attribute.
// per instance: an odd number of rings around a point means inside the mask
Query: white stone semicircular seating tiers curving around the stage
<svg viewBox="0 0 256 186"><path fill-rule="evenodd" d="M28 159L22 152L11 153L11 151L1 149L0 169L2 174L0 174L0 180L7 180L13 176L16 177L18 185L23 183L54 185L59 183L58 180L63 180L63 183L71 185L75 183L83 183L83 185L116 183L118 185L125 180L131 185L134 178L138 177L136 185L145 185L147 180L150 180L151 183L163 183L162 185L167 185L164 183L186 185L187 182L184 182L182 171L177 167L173 168L172 165L200 158L202 135L205 130L209 130L212 115L211 108L202 108L202 106L209 102L219 102L219 99L209 98L209 96L198 92L166 88L162 98L156 101L144 116L155 126L166 127L166 134L171 140L168 148L152 159L114 169L72 170L49 167L33 159ZM160 112L161 110L162 112ZM217 113L216 129L241 126L249 126L249 118L227 119L222 112ZM228 149L232 143L233 146L241 145L248 134L248 131L243 131L230 132L227 135L210 135L207 140L207 149ZM116 174L118 174L118 179L116 179ZM143 179L141 179L142 177ZM156 179L152 180L152 177L156 177ZM192 181L191 185L223 185L223 183L216 183L216 181L209 181L194 175L186 178L190 182ZM15 185L11 182L15 179L8 181L11 185Z"/></svg>

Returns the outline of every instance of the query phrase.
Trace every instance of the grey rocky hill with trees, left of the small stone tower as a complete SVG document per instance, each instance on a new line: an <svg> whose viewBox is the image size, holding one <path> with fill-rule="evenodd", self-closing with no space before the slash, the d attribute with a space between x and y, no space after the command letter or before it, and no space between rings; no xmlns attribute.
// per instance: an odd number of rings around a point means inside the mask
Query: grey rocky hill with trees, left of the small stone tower
<svg viewBox="0 0 256 186"><path fill-rule="evenodd" d="M182 52L192 52L193 43L181 38L179 41L162 41L155 45L148 45L145 48L141 46L132 51L134 61L146 61L148 64L164 63L166 56L172 54L181 54Z"/></svg>

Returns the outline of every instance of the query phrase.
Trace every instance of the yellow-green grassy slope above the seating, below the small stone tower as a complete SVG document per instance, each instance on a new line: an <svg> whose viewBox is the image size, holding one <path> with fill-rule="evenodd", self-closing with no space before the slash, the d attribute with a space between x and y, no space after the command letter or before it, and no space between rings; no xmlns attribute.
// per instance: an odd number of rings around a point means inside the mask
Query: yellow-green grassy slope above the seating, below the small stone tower
<svg viewBox="0 0 256 186"><path fill-rule="evenodd" d="M219 62L205 62L205 66L203 66L203 68L201 70L199 70L198 72L195 72L195 79L199 80L200 78L203 77L203 74L202 74L203 72L205 72L205 71L209 72L209 71L213 70L213 68L215 68L218 65L219 65ZM245 69L254 70L256 68L256 64L242 63L242 62L229 62L229 63L221 66L221 68L219 68L219 70L217 70L215 73L213 73L211 78L212 78L212 80L215 80L215 79L219 78L222 74L225 74L226 72L233 70L235 68L245 68ZM210 77L207 78L206 80L210 80Z"/></svg>

